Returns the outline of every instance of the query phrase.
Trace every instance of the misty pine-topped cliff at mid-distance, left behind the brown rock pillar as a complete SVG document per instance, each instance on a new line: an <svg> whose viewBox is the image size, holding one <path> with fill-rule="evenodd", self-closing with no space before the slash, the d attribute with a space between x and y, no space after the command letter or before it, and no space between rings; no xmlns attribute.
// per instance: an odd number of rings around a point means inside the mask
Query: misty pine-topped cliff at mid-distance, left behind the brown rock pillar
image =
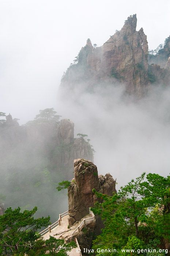
<svg viewBox="0 0 170 256"><path fill-rule="evenodd" d="M62 195L58 199L57 184L72 177L74 159L93 161L90 144L83 138L74 138L74 124L67 119L58 125L0 128L0 155L0 193L6 196L5 208L30 209L36 205L41 215L48 215L50 208L52 217L56 216L52 200L63 200Z"/></svg>

